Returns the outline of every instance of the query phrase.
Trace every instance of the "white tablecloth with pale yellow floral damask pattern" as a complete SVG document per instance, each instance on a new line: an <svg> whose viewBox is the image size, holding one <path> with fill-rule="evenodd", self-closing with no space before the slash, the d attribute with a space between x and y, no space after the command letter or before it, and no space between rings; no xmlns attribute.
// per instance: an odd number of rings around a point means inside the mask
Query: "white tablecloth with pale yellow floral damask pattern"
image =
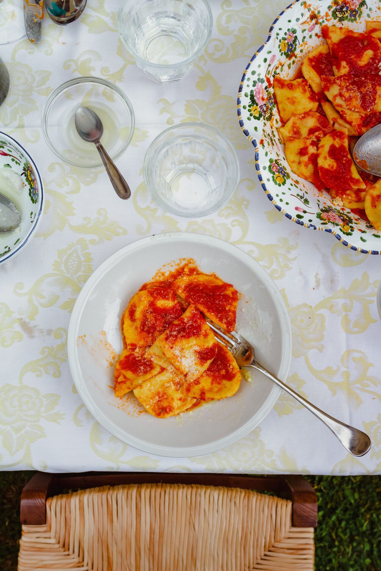
<svg viewBox="0 0 381 571"><path fill-rule="evenodd" d="M178 83L159 85L134 65L117 33L118 0L91 0L78 22L43 22L42 41L1 46L11 91L0 128L27 148L42 172L45 211L29 246L0 266L0 464L48 471L216 471L363 474L381 472L378 256L355 254L325 232L300 228L266 198L254 152L236 116L244 68L287 0L212 0L212 39ZM129 96L133 143L118 166L133 191L128 208L102 170L59 163L41 131L47 96L94 75ZM167 126L203 121L238 151L241 180L226 207L204 220L175 218L147 193L142 164ZM372 449L351 457L313 415L282 394L266 419L230 448L208 456L150 456L107 433L71 379L70 311L91 272L122 246L151 234L192 231L248 252L282 291L293 335L288 383L340 420L365 429Z"/></svg>

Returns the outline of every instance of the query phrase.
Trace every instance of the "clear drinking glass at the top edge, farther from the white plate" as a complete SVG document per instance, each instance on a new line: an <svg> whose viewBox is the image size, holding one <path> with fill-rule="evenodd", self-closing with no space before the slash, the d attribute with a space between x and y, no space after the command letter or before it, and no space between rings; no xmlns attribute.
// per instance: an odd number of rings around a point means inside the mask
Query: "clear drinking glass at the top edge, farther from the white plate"
<svg viewBox="0 0 381 571"><path fill-rule="evenodd" d="M124 0L118 31L137 66L161 83L178 81L212 30L207 0Z"/></svg>

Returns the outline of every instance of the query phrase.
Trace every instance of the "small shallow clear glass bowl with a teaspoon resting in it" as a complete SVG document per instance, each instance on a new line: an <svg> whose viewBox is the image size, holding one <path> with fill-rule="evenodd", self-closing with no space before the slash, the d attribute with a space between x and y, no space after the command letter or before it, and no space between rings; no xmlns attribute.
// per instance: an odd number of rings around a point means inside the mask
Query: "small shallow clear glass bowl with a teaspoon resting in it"
<svg viewBox="0 0 381 571"><path fill-rule="evenodd" d="M134 110L119 87L95 77L70 79L49 96L42 112L42 132L54 154L76 167L102 166L95 145L81 139L75 128L79 106L90 107L99 115L103 147L113 160L121 156L134 133Z"/></svg>

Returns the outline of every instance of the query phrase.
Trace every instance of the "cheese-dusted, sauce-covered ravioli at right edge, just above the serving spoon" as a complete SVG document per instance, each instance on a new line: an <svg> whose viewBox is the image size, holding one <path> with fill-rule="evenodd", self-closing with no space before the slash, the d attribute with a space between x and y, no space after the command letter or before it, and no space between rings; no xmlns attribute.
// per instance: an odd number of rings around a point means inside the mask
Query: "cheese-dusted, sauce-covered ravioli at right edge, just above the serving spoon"
<svg viewBox="0 0 381 571"><path fill-rule="evenodd" d="M381 111L381 77L363 74L358 77L322 77L322 88L336 109L367 114Z"/></svg>

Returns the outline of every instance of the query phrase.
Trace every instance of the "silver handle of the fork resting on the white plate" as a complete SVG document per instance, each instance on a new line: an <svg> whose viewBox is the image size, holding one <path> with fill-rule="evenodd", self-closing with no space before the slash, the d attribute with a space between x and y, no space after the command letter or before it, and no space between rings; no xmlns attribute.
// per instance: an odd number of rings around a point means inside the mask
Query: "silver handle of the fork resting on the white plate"
<svg viewBox="0 0 381 571"><path fill-rule="evenodd" d="M263 375L266 375L266 377L274 381L278 387L288 392L288 394L293 396L300 404L303 404L304 407L308 408L308 411L317 416L318 419L321 420L322 423L324 423L340 440L343 447L346 448L353 456L364 456L364 454L370 450L370 438L365 432L362 432L357 428L350 427L348 424L341 423L339 420L334 419L334 417L327 415L327 413L321 411L320 408L315 407L315 405L309 403L308 400L303 399L302 396L298 395L297 392L293 391L256 361L247 366L253 367L257 371L263 373Z"/></svg>

